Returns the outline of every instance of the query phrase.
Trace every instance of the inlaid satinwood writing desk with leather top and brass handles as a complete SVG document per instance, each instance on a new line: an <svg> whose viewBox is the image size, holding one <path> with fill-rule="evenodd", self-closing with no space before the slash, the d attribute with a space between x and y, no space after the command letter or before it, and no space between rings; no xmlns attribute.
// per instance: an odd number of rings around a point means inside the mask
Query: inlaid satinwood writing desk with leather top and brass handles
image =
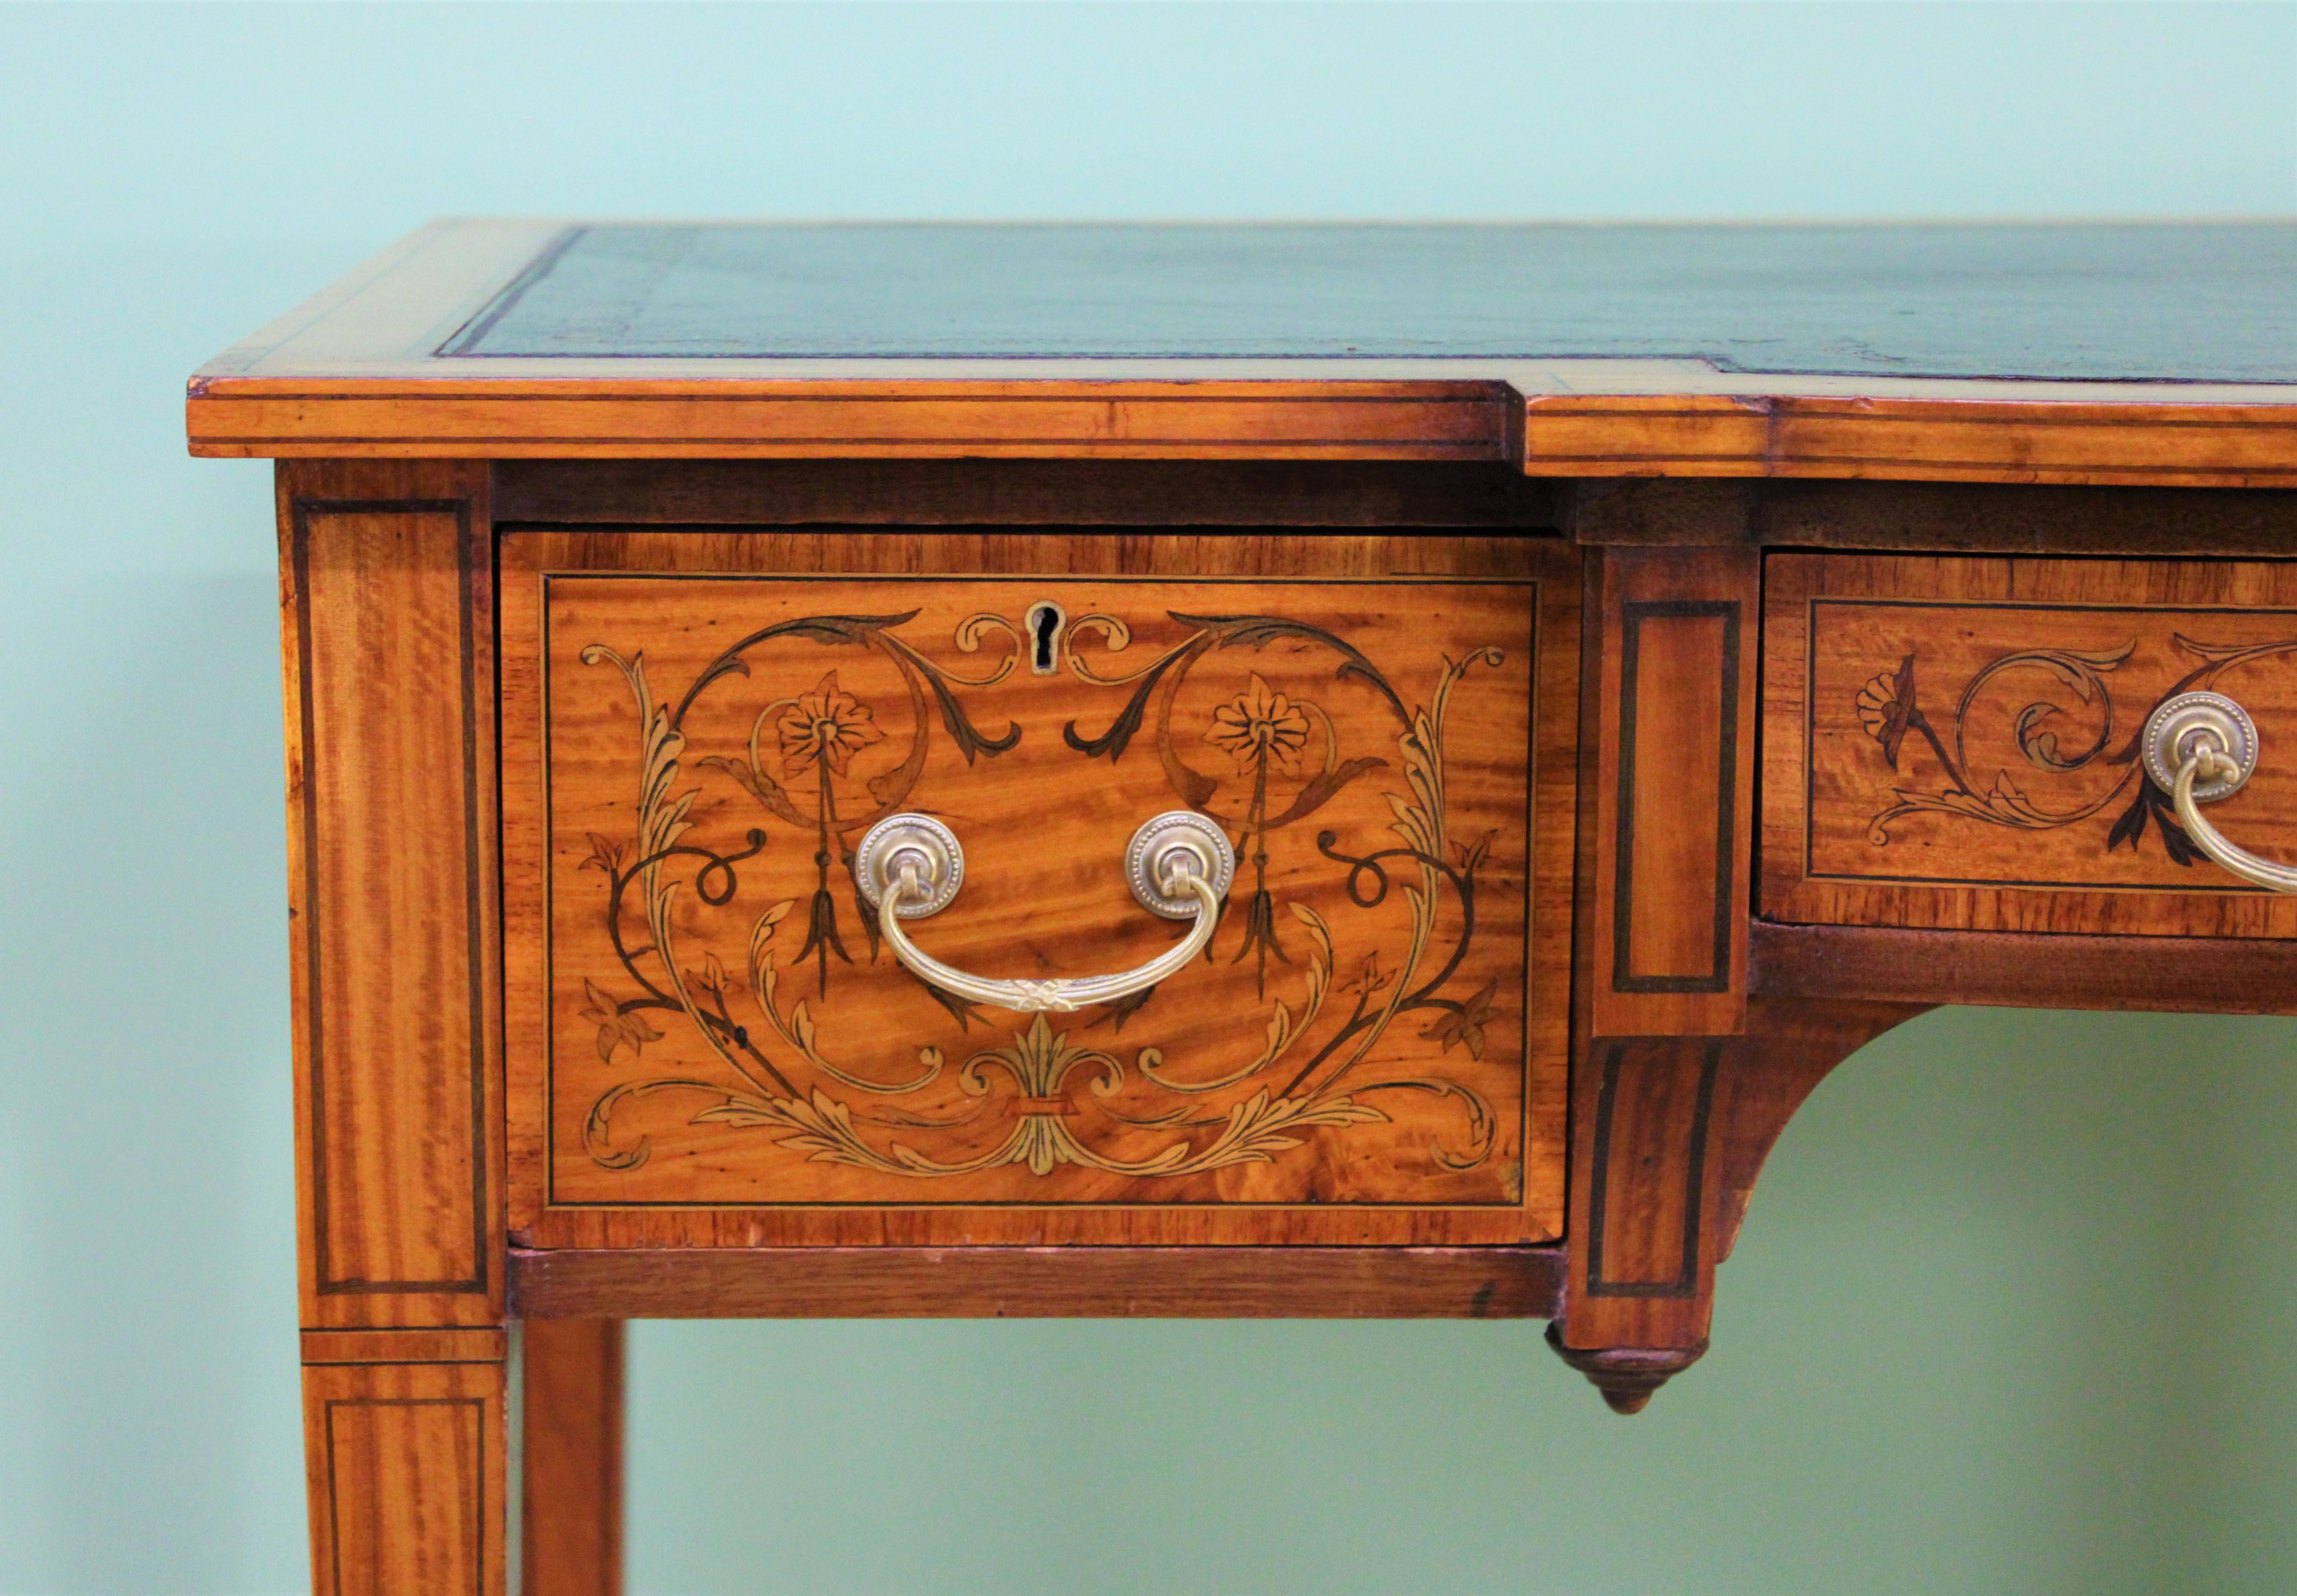
<svg viewBox="0 0 2297 1596"><path fill-rule="evenodd" d="M188 397L315 1587L618 1589L625 1318L1530 1316L1638 1410L1879 1031L2297 1010L2292 400L2290 225L418 232Z"/></svg>

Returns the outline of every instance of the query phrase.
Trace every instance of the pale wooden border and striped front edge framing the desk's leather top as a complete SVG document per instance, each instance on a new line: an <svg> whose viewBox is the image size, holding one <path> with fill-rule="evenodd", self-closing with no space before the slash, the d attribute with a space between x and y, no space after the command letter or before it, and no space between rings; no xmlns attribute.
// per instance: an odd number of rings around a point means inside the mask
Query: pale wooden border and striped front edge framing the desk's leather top
<svg viewBox="0 0 2297 1596"><path fill-rule="evenodd" d="M1695 356L441 354L579 223L441 220L209 361L200 457L1452 459L1528 475L2297 485L2297 383Z"/></svg>

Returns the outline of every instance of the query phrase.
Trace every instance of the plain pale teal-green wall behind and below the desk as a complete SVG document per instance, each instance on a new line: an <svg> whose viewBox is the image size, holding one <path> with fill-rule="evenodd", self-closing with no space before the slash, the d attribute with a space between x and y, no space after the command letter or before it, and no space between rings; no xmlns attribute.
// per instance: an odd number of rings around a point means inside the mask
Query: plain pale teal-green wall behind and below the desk
<svg viewBox="0 0 2297 1596"><path fill-rule="evenodd" d="M2292 83L2286 5L0 5L0 1591L303 1580L223 344L434 214L2288 216ZM2292 1036L1886 1036L1635 1421L1537 1325L641 1325L632 1587L2290 1589Z"/></svg>

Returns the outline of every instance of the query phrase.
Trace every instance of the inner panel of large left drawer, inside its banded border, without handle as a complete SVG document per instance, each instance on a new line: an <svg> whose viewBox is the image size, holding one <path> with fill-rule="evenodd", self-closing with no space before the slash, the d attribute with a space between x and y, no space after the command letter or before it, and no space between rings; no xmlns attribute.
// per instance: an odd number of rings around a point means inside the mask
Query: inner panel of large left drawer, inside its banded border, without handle
<svg viewBox="0 0 2297 1596"><path fill-rule="evenodd" d="M551 581L560 1201L1521 1201L1523 583L838 604L889 590ZM1077 1015L919 981L852 880L933 813L937 958L1121 969L1185 930L1121 882L1174 806L1238 852L1213 946Z"/></svg>

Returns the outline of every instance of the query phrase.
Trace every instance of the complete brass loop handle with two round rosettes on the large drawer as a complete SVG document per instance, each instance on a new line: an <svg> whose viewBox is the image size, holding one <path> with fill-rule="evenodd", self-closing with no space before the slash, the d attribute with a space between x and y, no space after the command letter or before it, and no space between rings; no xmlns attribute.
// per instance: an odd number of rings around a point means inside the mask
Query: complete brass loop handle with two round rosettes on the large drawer
<svg viewBox="0 0 2297 1596"><path fill-rule="evenodd" d="M1204 953L1220 925L1220 902L1236 873L1236 850L1227 834L1194 811L1158 815L1126 850L1126 873L1142 907L1167 919L1194 919L1188 937L1158 958L1112 976L1059 976L1008 981L976 976L944 964L910 942L905 919L923 919L956 898L965 873L965 850L956 834L928 815L889 815L854 850L854 880L877 907L877 932L919 981L990 1008L1066 1015L1096 1004L1114 1004L1167 981Z"/></svg>

